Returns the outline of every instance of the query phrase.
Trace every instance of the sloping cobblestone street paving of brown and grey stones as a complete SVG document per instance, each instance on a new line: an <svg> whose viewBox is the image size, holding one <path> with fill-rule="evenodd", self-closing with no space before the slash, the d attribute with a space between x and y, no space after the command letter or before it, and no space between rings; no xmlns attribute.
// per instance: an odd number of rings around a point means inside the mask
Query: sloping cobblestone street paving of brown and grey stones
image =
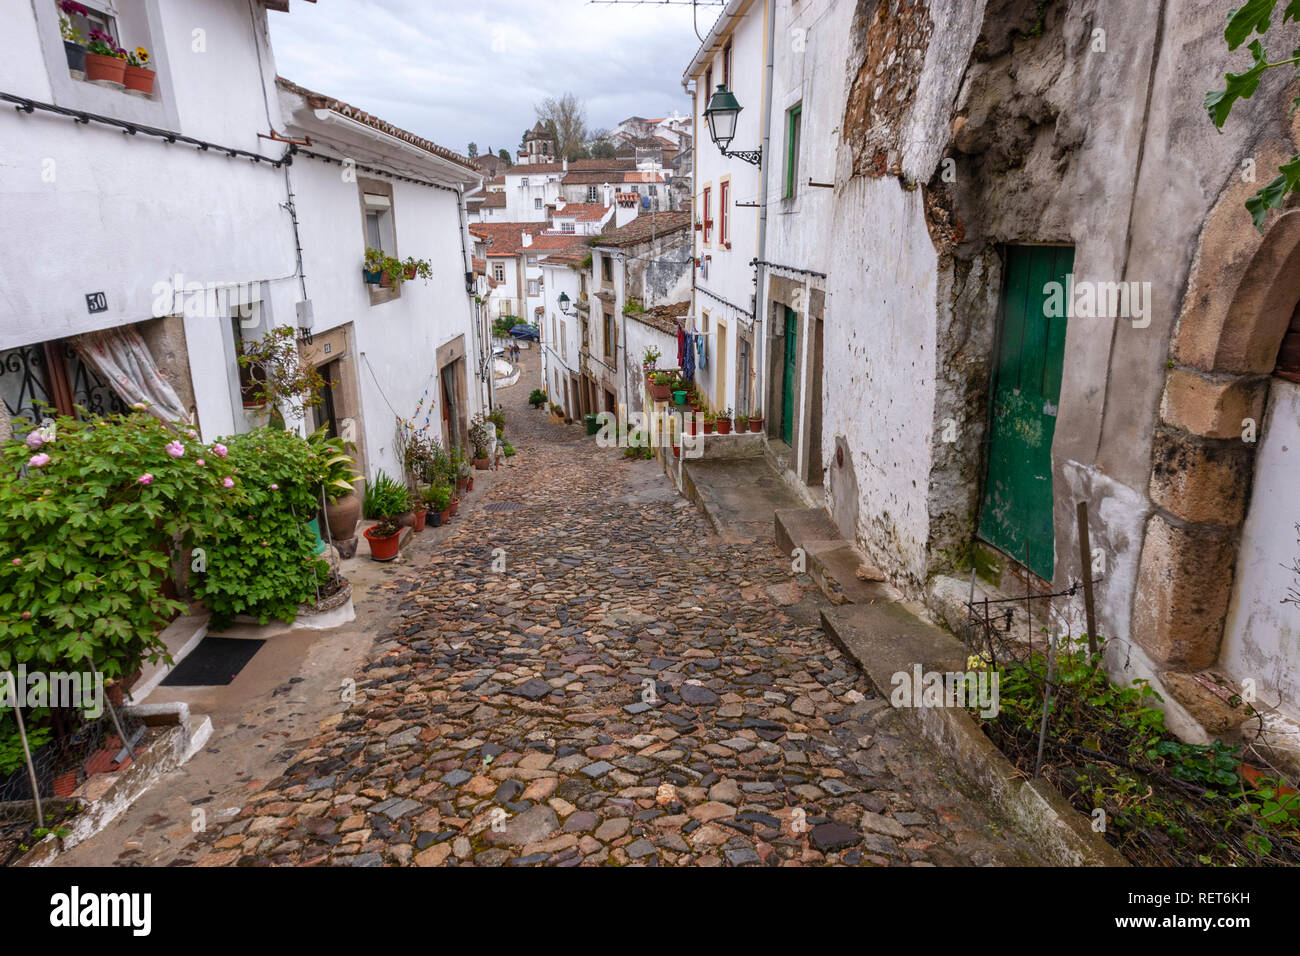
<svg viewBox="0 0 1300 956"><path fill-rule="evenodd" d="M192 862L1036 862L775 548L720 542L656 466L520 407L530 389L506 393L520 457L488 493L520 507L395 580L358 701Z"/></svg>

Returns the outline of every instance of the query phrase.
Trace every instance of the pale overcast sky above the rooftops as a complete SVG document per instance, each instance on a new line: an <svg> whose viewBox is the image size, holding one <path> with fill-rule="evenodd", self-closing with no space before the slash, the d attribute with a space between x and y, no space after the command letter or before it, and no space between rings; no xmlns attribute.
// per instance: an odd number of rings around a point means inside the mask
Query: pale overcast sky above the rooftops
<svg viewBox="0 0 1300 956"><path fill-rule="evenodd" d="M701 35L720 9L699 8ZM282 77L458 152L514 156L534 104L564 92L592 129L690 111L689 3L321 0L268 16Z"/></svg>

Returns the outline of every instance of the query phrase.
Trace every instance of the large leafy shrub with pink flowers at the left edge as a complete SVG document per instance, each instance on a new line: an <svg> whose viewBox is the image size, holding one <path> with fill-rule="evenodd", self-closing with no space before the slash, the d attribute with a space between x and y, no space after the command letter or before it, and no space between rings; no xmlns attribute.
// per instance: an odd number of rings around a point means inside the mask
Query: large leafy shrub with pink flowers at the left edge
<svg viewBox="0 0 1300 956"><path fill-rule="evenodd" d="M199 464L181 434L147 414L60 418L0 446L0 669L88 659L121 678L162 656L185 610L162 593L169 554L214 535L237 497L229 466Z"/></svg>

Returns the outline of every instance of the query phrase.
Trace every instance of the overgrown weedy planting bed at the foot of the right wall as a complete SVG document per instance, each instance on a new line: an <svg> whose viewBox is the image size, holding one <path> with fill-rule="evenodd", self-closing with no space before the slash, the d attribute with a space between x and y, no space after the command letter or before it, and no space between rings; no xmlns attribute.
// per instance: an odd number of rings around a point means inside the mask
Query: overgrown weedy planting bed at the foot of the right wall
<svg viewBox="0 0 1300 956"><path fill-rule="evenodd" d="M1065 605L1082 587L967 602L971 662L1000 674L998 713L980 721L985 735L1132 862L1300 864L1300 795L1249 745L1174 739L1145 682L1112 683L1106 657L1124 643L1097 640L1093 652L1061 623L1078 611Z"/></svg>

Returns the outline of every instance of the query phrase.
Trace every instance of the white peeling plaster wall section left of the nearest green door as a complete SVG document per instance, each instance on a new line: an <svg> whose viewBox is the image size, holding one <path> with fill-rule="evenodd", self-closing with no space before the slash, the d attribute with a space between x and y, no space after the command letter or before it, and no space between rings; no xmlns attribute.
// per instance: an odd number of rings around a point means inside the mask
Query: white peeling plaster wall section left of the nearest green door
<svg viewBox="0 0 1300 956"><path fill-rule="evenodd" d="M857 486L858 542L911 589L926 580L939 256L919 191L858 177L837 190L826 326L823 460L831 510ZM852 457L836 464L836 440ZM844 475L852 467L854 473Z"/></svg>

